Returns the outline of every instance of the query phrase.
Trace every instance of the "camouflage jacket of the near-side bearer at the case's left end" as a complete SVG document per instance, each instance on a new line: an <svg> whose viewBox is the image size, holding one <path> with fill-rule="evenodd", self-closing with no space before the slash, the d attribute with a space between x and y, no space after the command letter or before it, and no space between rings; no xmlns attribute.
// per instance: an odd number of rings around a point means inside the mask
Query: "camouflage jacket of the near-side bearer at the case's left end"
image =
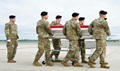
<svg viewBox="0 0 120 71"><path fill-rule="evenodd" d="M49 35L53 35L49 22L44 19L37 22L36 33L40 38L48 38Z"/></svg>

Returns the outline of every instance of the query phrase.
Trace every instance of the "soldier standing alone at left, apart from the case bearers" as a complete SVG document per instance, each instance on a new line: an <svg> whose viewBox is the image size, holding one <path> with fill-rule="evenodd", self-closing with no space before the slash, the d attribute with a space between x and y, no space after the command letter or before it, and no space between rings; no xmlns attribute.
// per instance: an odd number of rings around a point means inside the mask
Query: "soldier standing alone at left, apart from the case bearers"
<svg viewBox="0 0 120 71"><path fill-rule="evenodd" d="M8 63L16 63L14 59L17 51L18 46L18 29L17 25L15 24L15 16L10 15L9 16L10 22L5 24L5 35L7 40L7 58Z"/></svg>

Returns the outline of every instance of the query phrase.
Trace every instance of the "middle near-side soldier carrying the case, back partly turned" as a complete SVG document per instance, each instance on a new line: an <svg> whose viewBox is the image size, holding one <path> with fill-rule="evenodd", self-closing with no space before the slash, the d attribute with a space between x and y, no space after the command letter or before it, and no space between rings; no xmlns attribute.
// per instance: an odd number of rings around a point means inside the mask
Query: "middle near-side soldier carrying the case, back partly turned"
<svg viewBox="0 0 120 71"><path fill-rule="evenodd" d="M69 66L67 63L69 60L74 62L75 67L82 67L83 65L79 64L79 46L78 39L82 37L82 32L80 26L77 23L79 13L73 13L72 19L67 21L64 28L63 34L69 40L69 51L65 56L64 60L61 62L64 66Z"/></svg>

